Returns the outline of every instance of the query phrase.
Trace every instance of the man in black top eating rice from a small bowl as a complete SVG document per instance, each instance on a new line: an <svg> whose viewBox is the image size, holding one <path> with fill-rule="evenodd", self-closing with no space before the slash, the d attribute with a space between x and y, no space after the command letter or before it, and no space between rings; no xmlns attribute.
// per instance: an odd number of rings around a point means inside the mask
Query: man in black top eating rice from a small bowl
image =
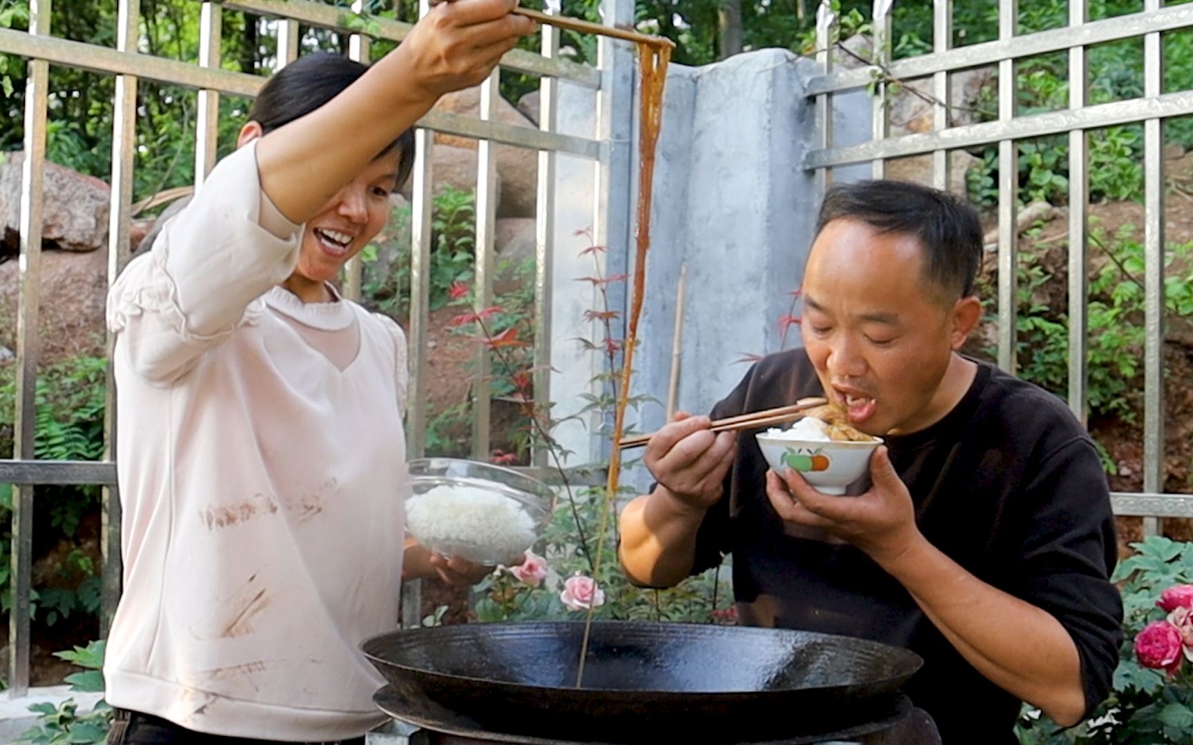
<svg viewBox="0 0 1193 745"><path fill-rule="evenodd" d="M982 316L977 215L895 181L836 186L803 279L803 348L753 366L711 418L826 396L884 439L849 495L777 474L753 433L679 414L620 558L670 586L734 557L741 622L919 653L907 684L945 745L1015 741L1021 702L1061 725L1107 695L1123 607L1109 493L1063 402L960 354Z"/></svg>

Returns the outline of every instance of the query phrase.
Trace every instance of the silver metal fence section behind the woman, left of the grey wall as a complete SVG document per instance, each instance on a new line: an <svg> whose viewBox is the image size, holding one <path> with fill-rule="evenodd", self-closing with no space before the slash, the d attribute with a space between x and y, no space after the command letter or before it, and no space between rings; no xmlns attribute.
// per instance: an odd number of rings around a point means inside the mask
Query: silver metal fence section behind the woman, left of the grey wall
<svg viewBox="0 0 1193 745"><path fill-rule="evenodd" d="M38 365L38 303L42 254L42 173L45 162L49 67L66 66L116 76L115 118L112 137L111 217L107 236L109 285L129 260L129 236L132 200L132 169L136 150L136 117L138 82L173 83L198 91L196 122L196 186L216 162L217 117L220 97L224 94L253 97L265 79L256 75L222 69L222 13L241 11L254 18L276 23L277 61L280 68L307 49L301 38L302 27L332 30L350 36L348 54L356 60L369 61L373 39L400 42L410 24L381 17L364 17L361 1L351 8L335 7L310 0L224 0L202 1L199 6L198 63L150 56L138 51L140 18L137 0L118 0L118 23L115 48L85 44L52 35L50 26L51 0L30 0L29 32L0 29L0 52L27 61L25 98L24 149L26 157L21 181L20 204L20 297L17 343L17 402L14 422L14 454L12 460L0 460L0 484L13 485L12 586L13 606L10 614L11 657L8 690L23 695L30 682L30 591L32 547L32 511L35 489L38 485L75 484L103 486L103 610L101 634L115 610L120 591L120 529L119 499L116 491L115 397L111 378L107 385L105 421L105 457L99 462L45 461L35 459L35 387ZM428 10L422 0L421 12ZM632 6L607 0L607 23L632 21ZM369 36L359 32L366 20ZM357 31L354 31L354 29ZM427 426L427 319L429 299L429 268L432 250L432 143L434 132L470 137L477 143L476 188L476 259L475 287L483 308L489 305L493 292L495 180L494 143L505 143L538 150L536 300L538 318L536 359L550 358L551 255L555 226L552 184L556 154L564 153L596 163L599 174L598 199L593 204L593 228L602 242L624 241L629 235L629 203L618 194L629 194L629 144L611 144L613 132L629 130L632 107L632 58L624 45L614 46L600 39L596 66L580 64L558 55L558 32L542 27L542 54L521 50L508 52L501 68L540 77L539 128L523 128L494 119L494 101L499 86L499 70L482 85L480 117L466 117L432 111L416 130L418 153L414 163L412 200L412 287L410 318L407 328L413 354L409 412L407 421L408 452L420 457L426 448ZM592 137L561 135L556 131L557 82L570 81L594 91L598 101L598 122ZM617 120L624 118L625 122ZM624 138L622 138L624 139ZM612 197L611 197L612 194ZM612 235L611 235L612 231ZM345 294L359 299L361 267L353 261L344 278ZM111 339L109 339L111 350ZM474 455L489 454L489 396L487 380L488 355L478 354L474 379ZM548 401L549 377L546 366L534 374L536 398ZM403 594L403 621L419 621L418 591Z"/></svg>

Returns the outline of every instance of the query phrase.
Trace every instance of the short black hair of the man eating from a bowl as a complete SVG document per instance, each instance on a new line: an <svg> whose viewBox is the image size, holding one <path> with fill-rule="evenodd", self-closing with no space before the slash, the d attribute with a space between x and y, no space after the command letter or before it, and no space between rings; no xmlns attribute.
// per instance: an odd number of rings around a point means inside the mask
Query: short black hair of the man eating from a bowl
<svg viewBox="0 0 1193 745"><path fill-rule="evenodd" d="M982 223L973 207L951 194L905 181L855 181L824 194L816 232L852 218L882 232L913 235L923 247L927 278L950 300L973 294L982 261Z"/></svg>

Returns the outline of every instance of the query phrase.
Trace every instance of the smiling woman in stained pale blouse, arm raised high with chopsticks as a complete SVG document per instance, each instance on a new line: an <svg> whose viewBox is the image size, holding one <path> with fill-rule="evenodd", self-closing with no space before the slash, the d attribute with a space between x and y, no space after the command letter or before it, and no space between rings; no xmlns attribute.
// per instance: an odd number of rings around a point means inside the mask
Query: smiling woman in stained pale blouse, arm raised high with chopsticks
<svg viewBox="0 0 1193 745"><path fill-rule="evenodd" d="M384 226L410 126L533 29L513 7L443 4L372 68L288 64L117 279L111 743L359 740L384 718L358 644L402 577L490 571L404 540L406 337L329 281Z"/></svg>

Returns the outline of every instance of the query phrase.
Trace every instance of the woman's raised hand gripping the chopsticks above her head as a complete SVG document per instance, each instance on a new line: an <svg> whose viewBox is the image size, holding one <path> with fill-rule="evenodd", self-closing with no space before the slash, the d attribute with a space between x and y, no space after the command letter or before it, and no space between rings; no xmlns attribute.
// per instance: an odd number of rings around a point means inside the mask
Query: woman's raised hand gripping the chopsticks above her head
<svg viewBox="0 0 1193 745"><path fill-rule="evenodd" d="M402 39L394 55L407 63L409 85L426 97L482 82L534 21L514 15L518 0L439 2Z"/></svg>

